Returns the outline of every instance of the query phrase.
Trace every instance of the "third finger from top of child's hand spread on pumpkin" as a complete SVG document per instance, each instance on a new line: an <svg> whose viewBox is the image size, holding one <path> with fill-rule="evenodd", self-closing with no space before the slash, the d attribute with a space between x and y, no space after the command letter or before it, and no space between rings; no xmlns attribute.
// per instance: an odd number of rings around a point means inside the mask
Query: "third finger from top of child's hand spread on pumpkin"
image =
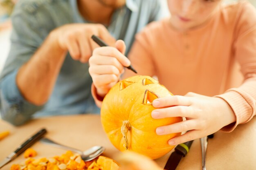
<svg viewBox="0 0 256 170"><path fill-rule="evenodd" d="M167 135L171 133L186 132L188 130L198 130L198 124L194 119L158 127L156 133L157 135Z"/></svg>

